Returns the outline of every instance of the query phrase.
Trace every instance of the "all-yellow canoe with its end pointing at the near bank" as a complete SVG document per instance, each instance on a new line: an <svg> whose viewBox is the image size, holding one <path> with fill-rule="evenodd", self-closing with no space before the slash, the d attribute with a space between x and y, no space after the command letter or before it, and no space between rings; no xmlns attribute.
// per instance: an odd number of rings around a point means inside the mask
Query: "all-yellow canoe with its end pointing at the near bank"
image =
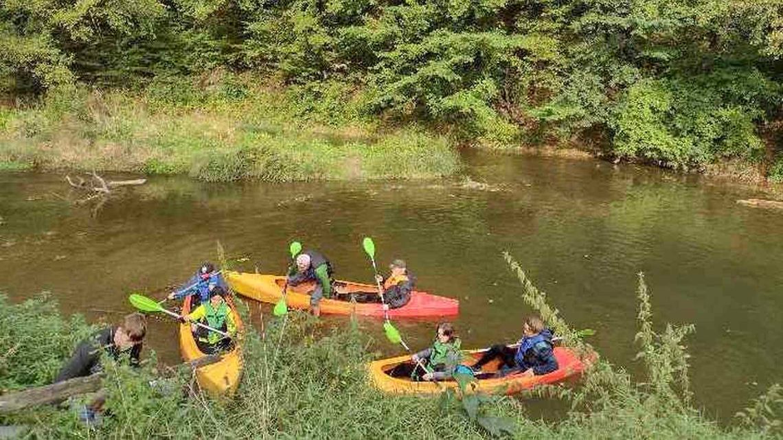
<svg viewBox="0 0 783 440"><path fill-rule="evenodd" d="M185 302L182 304L182 315L187 315L190 312L191 298L185 298ZM239 313L236 312L233 300L230 297L226 297L226 301L233 313L237 334L239 334L242 330L242 321ZM200 366L196 370L196 380L199 386L210 395L232 395L240 383L242 355L239 339L235 338L234 341L233 349L223 354L219 362ZM185 359L186 362L206 356L204 352L199 350L196 340L193 338L193 333L190 331L189 323L181 323L179 325L179 351L182 353L182 359Z"/></svg>

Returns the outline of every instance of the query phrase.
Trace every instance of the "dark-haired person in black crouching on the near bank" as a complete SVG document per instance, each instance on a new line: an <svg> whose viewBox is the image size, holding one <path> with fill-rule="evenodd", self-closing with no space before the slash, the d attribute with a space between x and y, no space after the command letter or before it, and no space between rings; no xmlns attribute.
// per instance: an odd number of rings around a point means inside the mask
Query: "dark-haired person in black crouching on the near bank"
<svg viewBox="0 0 783 440"><path fill-rule="evenodd" d="M119 360L120 355L127 352L131 365L139 365L145 334L146 319L142 314L125 316L122 325L106 327L81 341L54 381L89 376L103 370L100 364L102 349L114 360Z"/></svg>

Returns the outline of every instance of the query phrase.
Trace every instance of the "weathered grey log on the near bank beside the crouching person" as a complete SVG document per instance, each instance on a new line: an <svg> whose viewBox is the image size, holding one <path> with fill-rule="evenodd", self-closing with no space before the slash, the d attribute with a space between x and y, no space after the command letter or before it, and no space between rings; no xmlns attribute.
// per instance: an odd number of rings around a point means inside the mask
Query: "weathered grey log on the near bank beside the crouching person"
<svg viewBox="0 0 783 440"><path fill-rule="evenodd" d="M196 369L200 366L218 362L220 359L221 357L218 355L206 355L199 359L179 364L175 368L188 366L191 369ZM0 414L13 413L31 406L62 402L74 395L99 391L103 377L103 373L96 373L92 374L92 376L74 377L56 384L0 395Z"/></svg>

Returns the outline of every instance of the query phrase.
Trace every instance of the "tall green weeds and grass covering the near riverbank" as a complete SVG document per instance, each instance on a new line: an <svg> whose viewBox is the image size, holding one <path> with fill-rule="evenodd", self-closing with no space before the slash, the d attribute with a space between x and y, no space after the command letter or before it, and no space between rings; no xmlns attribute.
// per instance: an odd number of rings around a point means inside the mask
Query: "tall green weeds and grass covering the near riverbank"
<svg viewBox="0 0 783 440"><path fill-rule="evenodd" d="M567 344L590 347L573 337L525 273L508 258L523 287L522 299L536 309ZM326 330L314 319L291 313L267 319L265 334L250 330L244 340L244 378L235 399L186 398L188 374L170 377L162 393L150 388L154 362L134 372L112 366L104 381L106 417L97 431L81 426L73 409L45 407L0 418L24 424L34 438L775 438L779 388L752 402L733 427L719 427L691 404L684 337L691 326L651 326L651 304L640 277L639 359L647 376L635 382L624 370L600 361L576 388L544 388L534 394L564 399L571 410L557 421L529 416L525 400L506 397L427 399L381 395L366 380L363 362L373 344L356 323ZM64 320L51 303L32 300L0 307L0 360L5 389L42 384L56 373L67 348L86 334L81 319ZM255 323L258 325L258 322ZM13 327L12 327L13 326ZM13 330L13 331L11 331ZM65 331L67 330L67 331ZM40 344L39 341L47 341Z"/></svg>

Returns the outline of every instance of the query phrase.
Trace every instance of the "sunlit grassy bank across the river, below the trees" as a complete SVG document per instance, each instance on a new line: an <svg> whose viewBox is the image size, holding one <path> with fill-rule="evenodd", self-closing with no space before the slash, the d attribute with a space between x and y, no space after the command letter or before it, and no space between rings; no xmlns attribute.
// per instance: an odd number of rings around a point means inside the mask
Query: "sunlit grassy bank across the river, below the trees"
<svg viewBox="0 0 783 440"><path fill-rule="evenodd" d="M143 91L61 88L0 109L0 171L131 171L207 181L419 179L453 174L446 139L361 116L342 85L275 88L212 73Z"/></svg>

